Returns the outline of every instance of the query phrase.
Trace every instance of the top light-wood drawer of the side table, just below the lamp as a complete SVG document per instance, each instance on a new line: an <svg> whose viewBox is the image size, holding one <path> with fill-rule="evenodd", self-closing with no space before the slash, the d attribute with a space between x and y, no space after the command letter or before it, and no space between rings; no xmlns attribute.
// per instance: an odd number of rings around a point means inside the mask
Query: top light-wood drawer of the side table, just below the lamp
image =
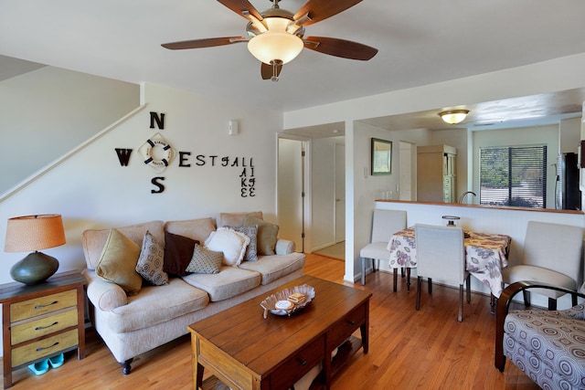
<svg viewBox="0 0 585 390"><path fill-rule="evenodd" d="M71 306L77 306L77 290L58 292L46 297L13 303L10 305L10 320L12 322L21 321Z"/></svg>

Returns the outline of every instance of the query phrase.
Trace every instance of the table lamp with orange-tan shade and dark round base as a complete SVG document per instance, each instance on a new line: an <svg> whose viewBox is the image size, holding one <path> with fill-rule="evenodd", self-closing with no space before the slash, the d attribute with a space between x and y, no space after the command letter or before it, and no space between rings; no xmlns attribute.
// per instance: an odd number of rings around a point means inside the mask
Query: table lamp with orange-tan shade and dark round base
<svg viewBox="0 0 585 390"><path fill-rule="evenodd" d="M5 252L33 251L10 269L10 276L27 285L47 280L57 272L58 260L38 250L63 244L65 231L58 214L16 216L8 219Z"/></svg>

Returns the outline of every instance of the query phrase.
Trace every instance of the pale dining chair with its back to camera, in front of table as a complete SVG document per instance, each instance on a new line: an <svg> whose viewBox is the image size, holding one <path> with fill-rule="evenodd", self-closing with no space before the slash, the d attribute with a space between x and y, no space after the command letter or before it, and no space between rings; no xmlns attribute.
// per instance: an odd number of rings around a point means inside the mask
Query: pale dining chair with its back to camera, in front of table
<svg viewBox="0 0 585 390"><path fill-rule="evenodd" d="M459 284L459 315L463 321L463 282L467 284L467 303L471 301L470 273L465 267L465 246L461 227L414 226L417 246L417 311L420 310L422 278L428 279L432 294L432 279Z"/></svg>

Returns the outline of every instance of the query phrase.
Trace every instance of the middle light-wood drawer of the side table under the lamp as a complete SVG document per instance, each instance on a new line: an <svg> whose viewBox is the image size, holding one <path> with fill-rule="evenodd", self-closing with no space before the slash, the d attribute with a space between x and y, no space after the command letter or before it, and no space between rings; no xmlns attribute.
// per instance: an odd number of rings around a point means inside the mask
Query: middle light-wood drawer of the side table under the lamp
<svg viewBox="0 0 585 390"><path fill-rule="evenodd" d="M11 343L26 342L49 333L61 331L70 326L77 326L77 309L62 311L34 321L26 321L12 326Z"/></svg>

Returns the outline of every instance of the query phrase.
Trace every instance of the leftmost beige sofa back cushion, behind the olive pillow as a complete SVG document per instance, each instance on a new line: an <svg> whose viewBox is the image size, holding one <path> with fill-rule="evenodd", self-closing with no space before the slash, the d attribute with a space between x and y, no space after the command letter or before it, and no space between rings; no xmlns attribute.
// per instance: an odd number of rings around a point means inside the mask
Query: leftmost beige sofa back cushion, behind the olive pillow
<svg viewBox="0 0 585 390"><path fill-rule="evenodd" d="M143 243L144 234L150 231L158 242L165 242L162 221L150 221L143 224L129 225L127 227L116 227L122 235L130 238L139 247ZM81 234L83 254L88 269L95 269L100 262L101 250L110 236L110 227L107 229L88 229Z"/></svg>

